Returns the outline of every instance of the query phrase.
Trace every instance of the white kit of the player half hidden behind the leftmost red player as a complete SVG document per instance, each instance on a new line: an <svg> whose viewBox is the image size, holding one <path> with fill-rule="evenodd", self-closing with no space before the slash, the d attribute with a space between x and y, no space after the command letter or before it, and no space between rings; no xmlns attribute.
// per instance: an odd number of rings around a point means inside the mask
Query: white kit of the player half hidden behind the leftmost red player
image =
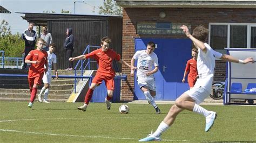
<svg viewBox="0 0 256 143"><path fill-rule="evenodd" d="M49 83L51 84L51 68L52 68L52 63L57 63L57 56L54 53L51 53L47 51L48 53L48 71L44 74L43 76L43 83Z"/></svg>

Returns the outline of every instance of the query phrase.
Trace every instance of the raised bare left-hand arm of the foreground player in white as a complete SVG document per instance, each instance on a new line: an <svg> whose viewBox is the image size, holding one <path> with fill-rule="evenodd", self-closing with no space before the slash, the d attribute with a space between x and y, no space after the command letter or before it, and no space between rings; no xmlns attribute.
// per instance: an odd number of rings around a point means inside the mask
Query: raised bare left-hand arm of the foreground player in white
<svg viewBox="0 0 256 143"><path fill-rule="evenodd" d="M188 28L187 28L186 25L182 25L180 28L181 28L181 29L183 30L183 32L186 34L186 37L187 37L187 38L190 38L190 39L193 41L194 45L195 45L197 48L200 48L204 53L207 52L207 48L205 47L204 42L202 42L202 41L200 41L200 40L194 38L194 37L190 34L190 31L188 30Z"/></svg>

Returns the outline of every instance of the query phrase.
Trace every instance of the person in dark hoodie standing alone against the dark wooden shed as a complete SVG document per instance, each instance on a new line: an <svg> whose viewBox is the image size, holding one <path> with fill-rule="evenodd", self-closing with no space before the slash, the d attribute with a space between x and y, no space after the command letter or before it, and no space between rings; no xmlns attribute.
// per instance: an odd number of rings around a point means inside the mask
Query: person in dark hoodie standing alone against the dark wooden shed
<svg viewBox="0 0 256 143"><path fill-rule="evenodd" d="M72 28L66 28L66 40L64 42L64 48L66 50L66 58L69 61L69 58L72 57L74 47L74 35L72 34ZM73 70L73 62L69 61L69 67L66 70Z"/></svg>

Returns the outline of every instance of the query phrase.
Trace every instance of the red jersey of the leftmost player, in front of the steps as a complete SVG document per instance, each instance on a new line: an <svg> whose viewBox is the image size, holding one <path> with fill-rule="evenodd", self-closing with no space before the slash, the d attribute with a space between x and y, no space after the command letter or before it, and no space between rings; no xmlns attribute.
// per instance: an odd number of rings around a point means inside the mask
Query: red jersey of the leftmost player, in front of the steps
<svg viewBox="0 0 256 143"><path fill-rule="evenodd" d="M34 49L29 52L25 60L39 61L39 63L31 63L29 68L29 78L40 77L44 73L44 65L47 63L48 54L45 51Z"/></svg>

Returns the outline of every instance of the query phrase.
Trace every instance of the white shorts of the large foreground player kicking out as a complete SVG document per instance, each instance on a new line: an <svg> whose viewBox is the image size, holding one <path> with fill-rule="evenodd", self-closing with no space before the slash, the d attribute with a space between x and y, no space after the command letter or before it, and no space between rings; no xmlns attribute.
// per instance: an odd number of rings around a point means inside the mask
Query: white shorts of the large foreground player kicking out
<svg viewBox="0 0 256 143"><path fill-rule="evenodd" d="M210 95L210 91L202 87L193 87L190 90L187 90L185 94L189 95L192 99L196 101L197 104L200 104Z"/></svg>

